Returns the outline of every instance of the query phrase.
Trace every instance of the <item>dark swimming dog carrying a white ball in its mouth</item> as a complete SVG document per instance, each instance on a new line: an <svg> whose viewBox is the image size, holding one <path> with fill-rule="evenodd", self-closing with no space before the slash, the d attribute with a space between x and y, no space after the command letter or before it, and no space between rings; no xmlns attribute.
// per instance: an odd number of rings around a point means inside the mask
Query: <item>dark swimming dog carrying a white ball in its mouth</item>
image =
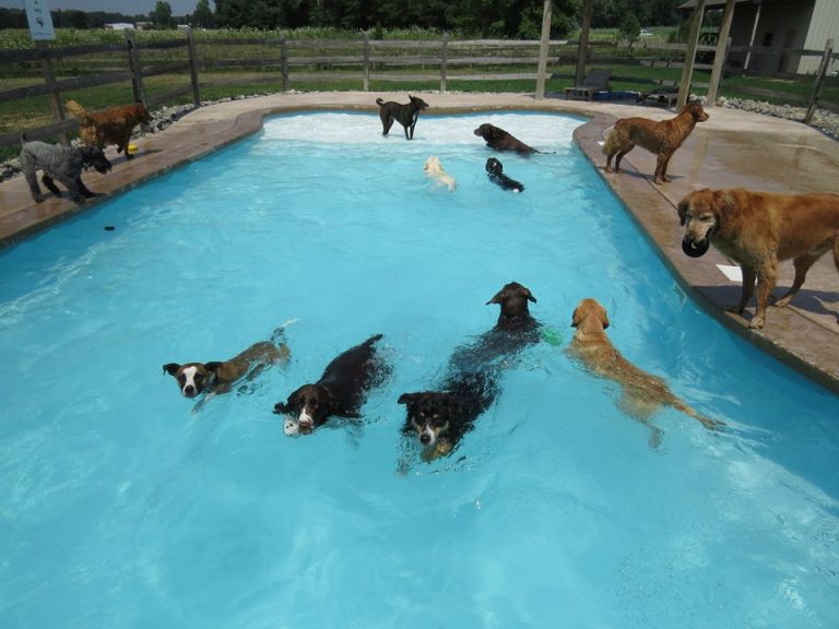
<svg viewBox="0 0 839 629"><path fill-rule="evenodd" d="M381 334L351 347L334 358L314 384L304 384L286 402L277 402L274 413L289 415L284 422L286 435L308 435L331 416L359 418L367 392L381 384L390 367L379 357L376 342Z"/></svg>

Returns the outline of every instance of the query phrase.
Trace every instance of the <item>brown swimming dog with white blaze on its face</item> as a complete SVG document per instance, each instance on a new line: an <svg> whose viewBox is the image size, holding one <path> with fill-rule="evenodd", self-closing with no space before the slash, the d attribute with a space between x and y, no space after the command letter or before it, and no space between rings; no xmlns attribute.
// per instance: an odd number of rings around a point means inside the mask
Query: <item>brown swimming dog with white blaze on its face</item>
<svg viewBox="0 0 839 629"><path fill-rule="evenodd" d="M215 395L229 393L243 381L253 380L273 365L287 365L291 352L285 342L287 323L274 330L270 341L259 341L229 360L210 363L167 363L163 372L174 377L184 397L201 395L193 412ZM244 389L239 389L244 391Z"/></svg>

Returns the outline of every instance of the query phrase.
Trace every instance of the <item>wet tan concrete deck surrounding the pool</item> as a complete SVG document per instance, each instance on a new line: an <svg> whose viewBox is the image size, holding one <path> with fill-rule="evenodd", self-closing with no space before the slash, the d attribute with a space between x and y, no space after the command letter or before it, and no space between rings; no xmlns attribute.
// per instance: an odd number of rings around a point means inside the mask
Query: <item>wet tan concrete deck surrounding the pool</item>
<svg viewBox="0 0 839 629"><path fill-rule="evenodd" d="M135 159L127 162L108 151L113 173L84 175L91 190L107 199L261 128L265 115L295 110L377 111L375 100L405 100L404 93L319 92L276 94L229 100L197 109L169 128L137 140ZM532 94L423 93L427 115L492 110L536 110L572 114L588 121L575 132L575 142L610 183L648 235L682 287L711 316L808 378L839 393L839 276L829 253L810 271L807 281L788 308L770 308L761 331L747 320L728 313L736 302L740 283L720 266L734 265L713 248L700 259L687 258L681 248L682 228L676 204L698 188L743 187L775 192L839 192L839 142L800 122L734 109L709 109L710 119L675 153L669 173L673 179L653 186L655 157L643 149L624 158L621 175L606 175L601 152L603 138L616 118L643 116L672 118L673 111L616 103L587 103ZM420 122L422 126L422 120ZM398 124L391 130L401 139ZM481 142L477 138L477 142ZM0 247L95 206L102 199L78 209L67 199L32 201L23 177L0 183ZM560 202L558 200L558 202ZM776 295L792 282L792 262L781 264ZM754 301L746 317L754 311ZM689 351L689 348L677 348ZM722 366L721 366L722 367Z"/></svg>

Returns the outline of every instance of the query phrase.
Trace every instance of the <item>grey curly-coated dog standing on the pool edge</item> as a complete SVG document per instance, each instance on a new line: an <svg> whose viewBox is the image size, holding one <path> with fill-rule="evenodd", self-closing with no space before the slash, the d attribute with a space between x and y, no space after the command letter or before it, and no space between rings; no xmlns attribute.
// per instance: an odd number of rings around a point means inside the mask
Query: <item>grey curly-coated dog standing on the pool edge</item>
<svg viewBox="0 0 839 629"><path fill-rule="evenodd" d="M70 192L70 198L76 203L101 193L91 192L82 181L82 170L94 168L97 173L105 174L111 168L110 162L105 157L102 149L96 146L56 146L46 142L22 142L21 170L29 185L32 199L40 203L46 195L38 186L37 170L43 170L42 181L56 197L61 197L61 190L55 180L60 181Z"/></svg>

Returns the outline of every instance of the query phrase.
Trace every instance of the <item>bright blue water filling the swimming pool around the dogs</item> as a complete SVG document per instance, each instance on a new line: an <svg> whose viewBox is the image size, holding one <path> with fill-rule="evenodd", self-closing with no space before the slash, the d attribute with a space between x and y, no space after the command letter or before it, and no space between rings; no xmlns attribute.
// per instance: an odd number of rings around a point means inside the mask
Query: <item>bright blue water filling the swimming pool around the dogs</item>
<svg viewBox="0 0 839 629"><path fill-rule="evenodd" d="M500 155L523 193L486 179L481 122L552 152ZM837 397L685 297L579 123L424 117L406 142L276 117L0 253L0 627L837 627ZM454 455L399 473L399 394L513 280L552 342ZM651 449L565 353L582 297L729 429L664 410ZM292 319L291 364L249 394L193 414L162 373ZM364 420L286 437L273 404L378 332L393 375Z"/></svg>

